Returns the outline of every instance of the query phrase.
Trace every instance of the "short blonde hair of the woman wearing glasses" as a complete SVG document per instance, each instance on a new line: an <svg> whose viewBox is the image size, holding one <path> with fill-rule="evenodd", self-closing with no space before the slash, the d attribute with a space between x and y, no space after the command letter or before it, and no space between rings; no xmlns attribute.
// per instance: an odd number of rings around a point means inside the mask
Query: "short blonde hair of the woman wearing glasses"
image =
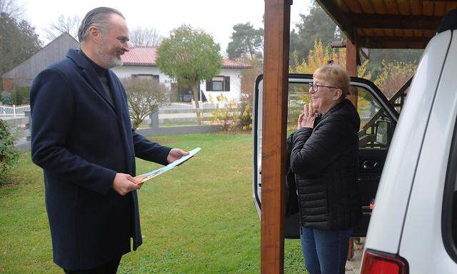
<svg viewBox="0 0 457 274"><path fill-rule="evenodd" d="M343 91L341 93L341 98L346 98L346 95L350 93L350 78L346 69L341 68L341 66L335 64L321 66L314 71L313 78L321 78L323 81L326 81L329 86L341 88L341 91Z"/></svg>

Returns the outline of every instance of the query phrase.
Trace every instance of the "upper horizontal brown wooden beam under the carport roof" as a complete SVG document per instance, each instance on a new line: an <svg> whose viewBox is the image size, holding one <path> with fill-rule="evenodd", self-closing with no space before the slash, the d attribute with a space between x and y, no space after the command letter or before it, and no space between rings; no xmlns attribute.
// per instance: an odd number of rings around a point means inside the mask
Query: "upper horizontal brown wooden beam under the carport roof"
<svg viewBox="0 0 457 274"><path fill-rule="evenodd" d="M356 29L420 29L436 31L443 16L344 14Z"/></svg>

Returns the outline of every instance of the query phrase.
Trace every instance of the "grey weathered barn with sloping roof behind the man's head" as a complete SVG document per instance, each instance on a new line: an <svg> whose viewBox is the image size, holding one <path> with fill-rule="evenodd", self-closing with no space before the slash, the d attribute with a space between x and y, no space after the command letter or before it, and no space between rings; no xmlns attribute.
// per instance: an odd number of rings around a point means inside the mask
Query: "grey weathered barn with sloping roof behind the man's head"
<svg viewBox="0 0 457 274"><path fill-rule="evenodd" d="M38 73L50 64L63 59L69 49L79 49L79 42L70 34L61 34L21 64L6 71L1 76L3 91L30 87Z"/></svg>

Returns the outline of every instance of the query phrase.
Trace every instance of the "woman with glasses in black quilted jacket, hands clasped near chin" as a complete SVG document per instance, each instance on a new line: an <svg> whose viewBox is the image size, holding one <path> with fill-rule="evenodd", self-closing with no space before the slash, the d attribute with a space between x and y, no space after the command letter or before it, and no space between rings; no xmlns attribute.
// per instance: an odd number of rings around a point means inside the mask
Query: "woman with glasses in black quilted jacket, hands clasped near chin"
<svg viewBox="0 0 457 274"><path fill-rule="evenodd" d="M349 77L337 65L318 68L311 102L288 138L301 217L300 238L310 274L344 273L352 228L361 218L357 186L360 118Z"/></svg>

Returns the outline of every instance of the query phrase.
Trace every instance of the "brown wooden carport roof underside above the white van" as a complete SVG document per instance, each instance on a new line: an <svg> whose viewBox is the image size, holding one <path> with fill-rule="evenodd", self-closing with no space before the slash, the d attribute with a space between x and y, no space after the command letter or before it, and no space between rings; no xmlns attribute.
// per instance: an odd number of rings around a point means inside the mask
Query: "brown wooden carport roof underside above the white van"
<svg viewBox="0 0 457 274"><path fill-rule="evenodd" d="M358 47L423 49L457 0L317 0Z"/></svg>

